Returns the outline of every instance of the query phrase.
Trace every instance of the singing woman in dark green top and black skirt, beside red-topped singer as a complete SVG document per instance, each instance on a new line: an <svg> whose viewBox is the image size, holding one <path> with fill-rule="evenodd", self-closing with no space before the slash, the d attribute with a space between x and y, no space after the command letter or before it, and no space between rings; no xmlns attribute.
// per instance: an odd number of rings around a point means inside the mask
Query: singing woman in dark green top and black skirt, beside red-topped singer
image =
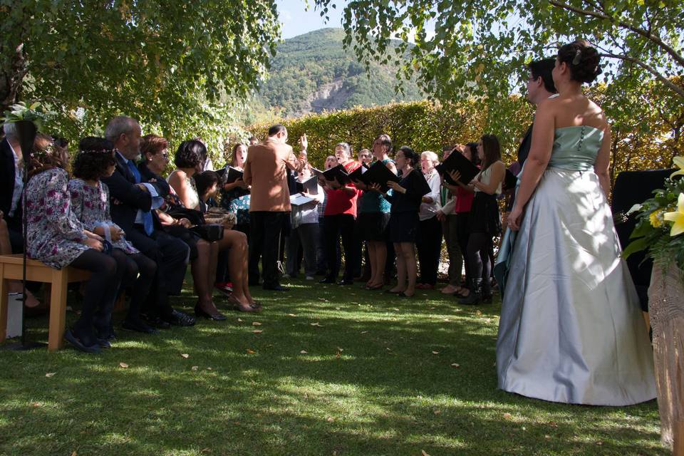
<svg viewBox="0 0 684 456"><path fill-rule="evenodd" d="M380 135L373 141L373 157L382 162L388 170L397 173L394 160L390 159L392 140L388 135ZM359 190L368 190L363 182L356 181L354 185ZM366 282L366 288L377 290L385 284L385 262L387 261L387 226L390 222L390 207L383 195L378 192L364 192L358 207L358 230L361 237L368 243L368 259L371 263L371 279Z"/></svg>

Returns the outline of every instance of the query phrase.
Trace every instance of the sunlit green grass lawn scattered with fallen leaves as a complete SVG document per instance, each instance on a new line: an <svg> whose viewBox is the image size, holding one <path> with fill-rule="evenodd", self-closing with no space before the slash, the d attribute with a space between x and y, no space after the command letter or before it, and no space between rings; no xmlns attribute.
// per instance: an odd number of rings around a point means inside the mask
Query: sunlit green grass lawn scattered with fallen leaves
<svg viewBox="0 0 684 456"><path fill-rule="evenodd" d="M291 286L255 288L261 314L118 331L99 356L0 351L0 455L667 454L655 400L585 407L497 390L498 303ZM47 318L30 323L47 338Z"/></svg>

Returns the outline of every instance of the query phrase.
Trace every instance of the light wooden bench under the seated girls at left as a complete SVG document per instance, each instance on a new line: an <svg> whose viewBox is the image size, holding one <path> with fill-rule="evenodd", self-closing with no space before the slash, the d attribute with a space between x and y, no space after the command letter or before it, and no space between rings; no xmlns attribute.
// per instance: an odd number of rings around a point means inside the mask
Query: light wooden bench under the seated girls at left
<svg viewBox="0 0 684 456"><path fill-rule="evenodd" d="M21 280L23 277L24 256L0 255L0 342L7 336L7 291L10 280ZM90 271L66 267L54 269L42 261L26 260L26 280L51 284L50 291L50 327L48 331L48 350L56 351L64 344L64 327L66 325L66 291L72 282L86 281ZM121 300L117 308L121 307Z"/></svg>

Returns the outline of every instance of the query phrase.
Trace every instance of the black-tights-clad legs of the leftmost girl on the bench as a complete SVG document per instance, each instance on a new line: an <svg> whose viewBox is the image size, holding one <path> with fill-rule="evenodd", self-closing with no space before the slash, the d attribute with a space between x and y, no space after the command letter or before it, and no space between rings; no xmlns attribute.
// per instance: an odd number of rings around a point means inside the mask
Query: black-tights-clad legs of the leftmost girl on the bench
<svg viewBox="0 0 684 456"><path fill-rule="evenodd" d="M91 344L93 325L103 336L110 331L114 301L126 261L126 254L118 249L114 249L111 255L88 249L69 265L90 271L90 279L83 289L81 317L73 325L76 337L83 339L86 344Z"/></svg>

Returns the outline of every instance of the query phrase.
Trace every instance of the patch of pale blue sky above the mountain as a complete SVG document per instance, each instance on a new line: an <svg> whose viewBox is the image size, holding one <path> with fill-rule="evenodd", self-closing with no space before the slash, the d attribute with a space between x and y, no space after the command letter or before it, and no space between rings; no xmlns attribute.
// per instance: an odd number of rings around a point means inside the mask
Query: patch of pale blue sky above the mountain
<svg viewBox="0 0 684 456"><path fill-rule="evenodd" d="M342 26L343 1L338 1L338 9L328 11L330 21L326 24L321 17L320 11L314 11L313 1L309 1L309 10L306 9L305 0L276 0L280 21L283 24L283 38L292 38L309 31L324 27Z"/></svg>

